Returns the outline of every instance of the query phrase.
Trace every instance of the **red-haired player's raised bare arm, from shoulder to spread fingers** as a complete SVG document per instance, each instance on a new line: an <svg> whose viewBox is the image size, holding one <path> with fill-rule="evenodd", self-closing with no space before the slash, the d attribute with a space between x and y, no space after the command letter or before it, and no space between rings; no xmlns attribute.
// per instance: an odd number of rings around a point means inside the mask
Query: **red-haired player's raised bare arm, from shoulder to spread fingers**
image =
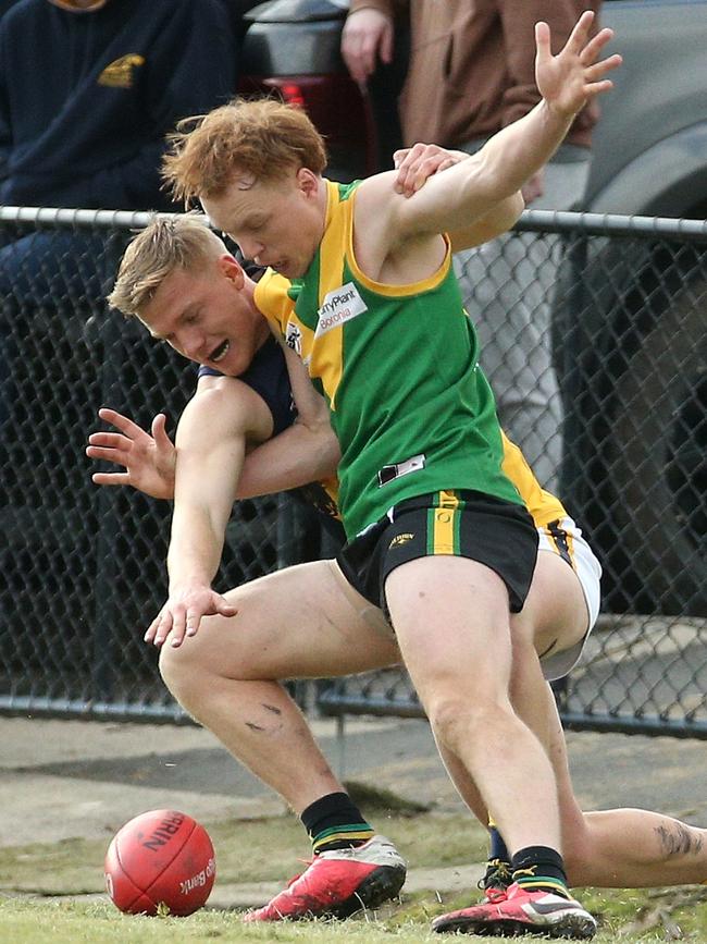
<svg viewBox="0 0 707 944"><path fill-rule="evenodd" d="M550 53L546 23L536 25L536 81L543 96L526 115L500 131L474 158L459 161L406 197L396 171L370 177L357 194L355 226L359 265L373 279L398 283L431 274L442 258L436 234L464 231L513 196L561 144L575 114L608 90L606 78L621 58L598 60L610 29L588 38L594 15L583 13L558 56ZM407 260L401 262L400 257ZM430 261L426 267L424 258Z"/></svg>

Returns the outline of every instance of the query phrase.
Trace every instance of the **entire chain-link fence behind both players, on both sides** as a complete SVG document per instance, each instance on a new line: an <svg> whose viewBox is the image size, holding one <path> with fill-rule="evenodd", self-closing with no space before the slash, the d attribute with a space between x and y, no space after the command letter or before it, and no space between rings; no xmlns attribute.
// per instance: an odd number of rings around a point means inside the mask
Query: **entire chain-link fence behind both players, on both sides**
<svg viewBox="0 0 707 944"><path fill-rule="evenodd" d="M3 711L182 720L141 642L169 506L97 488L84 452L99 406L173 430L196 383L102 301L146 221L0 209ZM604 567L565 721L707 736L707 224L535 211L489 252L456 265L501 420ZM219 588L305 559L315 530L284 495L239 503ZM421 714L398 670L321 683L319 704Z"/></svg>

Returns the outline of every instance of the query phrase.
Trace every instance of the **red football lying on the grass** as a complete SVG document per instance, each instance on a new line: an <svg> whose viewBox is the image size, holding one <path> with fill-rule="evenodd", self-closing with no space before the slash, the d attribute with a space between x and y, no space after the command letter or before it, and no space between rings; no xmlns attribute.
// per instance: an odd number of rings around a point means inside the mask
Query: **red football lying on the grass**
<svg viewBox="0 0 707 944"><path fill-rule="evenodd" d="M176 810L150 810L125 823L106 854L106 887L132 915L191 915L211 893L216 863L209 834Z"/></svg>

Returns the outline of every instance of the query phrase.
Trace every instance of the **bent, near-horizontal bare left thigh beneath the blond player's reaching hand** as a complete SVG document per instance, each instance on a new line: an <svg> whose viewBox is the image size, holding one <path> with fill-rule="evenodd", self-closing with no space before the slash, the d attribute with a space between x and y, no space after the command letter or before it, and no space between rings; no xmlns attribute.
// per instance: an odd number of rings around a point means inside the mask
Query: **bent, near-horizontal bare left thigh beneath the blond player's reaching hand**
<svg viewBox="0 0 707 944"><path fill-rule="evenodd" d="M300 564L230 590L237 614L206 617L177 658L238 679L314 678L394 664L394 638L367 618L363 598L345 592L335 566Z"/></svg>

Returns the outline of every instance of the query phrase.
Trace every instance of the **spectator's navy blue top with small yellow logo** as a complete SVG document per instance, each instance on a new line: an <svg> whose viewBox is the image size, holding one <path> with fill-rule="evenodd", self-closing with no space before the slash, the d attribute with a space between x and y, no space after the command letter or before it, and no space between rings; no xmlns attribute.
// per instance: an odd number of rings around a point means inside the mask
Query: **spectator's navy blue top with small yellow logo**
<svg viewBox="0 0 707 944"><path fill-rule="evenodd" d="M233 96L235 50L221 0L15 3L0 24L0 201L173 208L165 135Z"/></svg>

